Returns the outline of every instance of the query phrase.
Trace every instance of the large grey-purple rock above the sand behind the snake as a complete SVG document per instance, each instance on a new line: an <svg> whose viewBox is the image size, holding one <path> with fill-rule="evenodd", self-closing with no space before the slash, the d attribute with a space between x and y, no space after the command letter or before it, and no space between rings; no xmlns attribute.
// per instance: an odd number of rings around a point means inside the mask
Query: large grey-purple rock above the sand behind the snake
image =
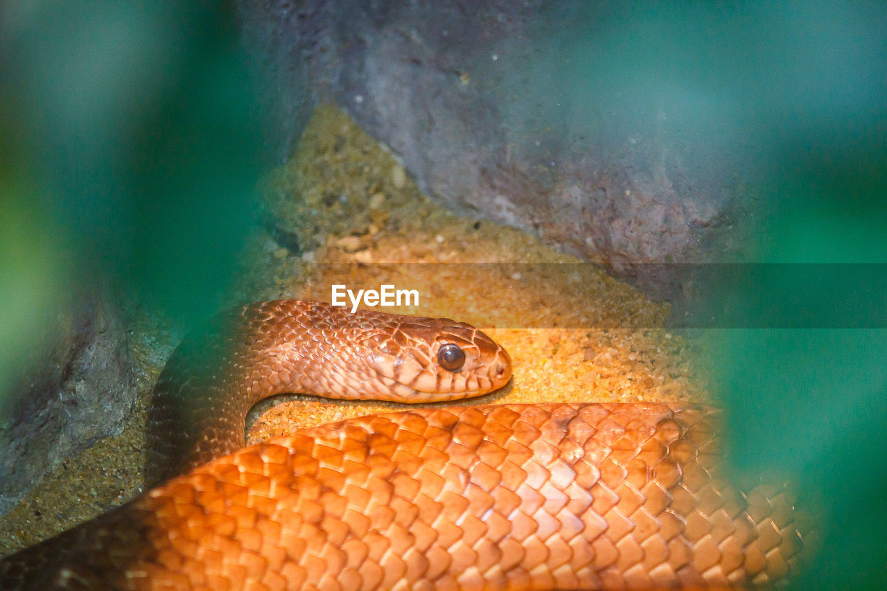
<svg viewBox="0 0 887 591"><path fill-rule="evenodd" d="M667 267L622 265L742 250L742 142L703 92L637 70L645 58L621 44L639 40L619 9L242 4L270 75L280 159L312 106L334 100L437 199L607 263L651 293L675 295Z"/></svg>

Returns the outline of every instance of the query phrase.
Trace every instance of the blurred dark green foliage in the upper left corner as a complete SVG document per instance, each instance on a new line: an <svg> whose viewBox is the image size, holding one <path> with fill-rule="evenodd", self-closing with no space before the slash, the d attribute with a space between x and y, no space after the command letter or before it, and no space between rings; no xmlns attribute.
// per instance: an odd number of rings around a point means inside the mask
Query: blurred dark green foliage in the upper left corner
<svg viewBox="0 0 887 591"><path fill-rule="evenodd" d="M0 7L0 392L83 290L216 307L263 131L238 35L227 3Z"/></svg>

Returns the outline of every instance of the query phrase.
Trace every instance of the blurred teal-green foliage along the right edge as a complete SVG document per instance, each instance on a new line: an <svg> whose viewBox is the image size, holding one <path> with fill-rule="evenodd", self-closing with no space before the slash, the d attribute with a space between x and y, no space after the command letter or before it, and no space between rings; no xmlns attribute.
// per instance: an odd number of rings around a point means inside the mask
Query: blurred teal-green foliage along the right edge
<svg viewBox="0 0 887 591"><path fill-rule="evenodd" d="M518 94L528 112L549 109L540 128L597 146L624 146L630 133L666 138L663 159L695 163L696 180L710 171L719 182L742 179L752 263L789 264L786 275L807 279L816 264L843 264L830 277L854 280L802 288L771 269L764 283L729 294L706 286L713 302L745 306L734 327L706 337L717 343L711 357L737 474L786 474L825 508L823 552L797 588L887 588L883 2L546 6L569 11L572 23L540 26L551 43L539 52L552 59L514 59L515 70L544 81L543 91ZM687 154L669 154L668 138L681 138ZM833 317L865 277L880 301ZM781 304L767 309L773 302ZM807 312L820 328L789 328ZM845 322L867 313L868 324Z"/></svg>

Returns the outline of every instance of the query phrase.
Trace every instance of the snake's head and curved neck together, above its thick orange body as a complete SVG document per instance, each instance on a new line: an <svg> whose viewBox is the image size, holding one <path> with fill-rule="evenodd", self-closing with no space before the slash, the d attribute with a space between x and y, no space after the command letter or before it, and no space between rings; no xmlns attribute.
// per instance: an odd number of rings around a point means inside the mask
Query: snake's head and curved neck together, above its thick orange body
<svg viewBox="0 0 887 591"><path fill-rule="evenodd" d="M460 365L443 368L443 347ZM474 327L280 300L224 312L187 335L154 388L145 479L154 485L244 444L250 407L280 393L428 402L510 379L505 350Z"/></svg>

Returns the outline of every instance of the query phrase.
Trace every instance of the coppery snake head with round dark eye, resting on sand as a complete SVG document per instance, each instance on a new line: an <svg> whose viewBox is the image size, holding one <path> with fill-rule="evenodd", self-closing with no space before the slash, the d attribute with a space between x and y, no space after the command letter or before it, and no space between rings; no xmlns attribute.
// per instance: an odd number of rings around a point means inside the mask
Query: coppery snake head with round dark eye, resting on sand
<svg viewBox="0 0 887 591"><path fill-rule="evenodd" d="M378 335L373 368L400 402L471 398L511 379L511 357L480 330L451 319L402 317Z"/></svg>

